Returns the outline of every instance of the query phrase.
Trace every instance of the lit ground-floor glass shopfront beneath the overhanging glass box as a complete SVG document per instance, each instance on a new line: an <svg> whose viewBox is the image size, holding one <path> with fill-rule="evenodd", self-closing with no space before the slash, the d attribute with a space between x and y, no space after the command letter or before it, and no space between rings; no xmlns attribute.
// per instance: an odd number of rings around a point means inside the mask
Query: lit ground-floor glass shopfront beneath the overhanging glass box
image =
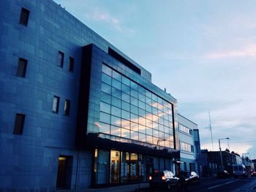
<svg viewBox="0 0 256 192"><path fill-rule="evenodd" d="M146 181L145 156L118 150L96 149L93 185Z"/></svg>

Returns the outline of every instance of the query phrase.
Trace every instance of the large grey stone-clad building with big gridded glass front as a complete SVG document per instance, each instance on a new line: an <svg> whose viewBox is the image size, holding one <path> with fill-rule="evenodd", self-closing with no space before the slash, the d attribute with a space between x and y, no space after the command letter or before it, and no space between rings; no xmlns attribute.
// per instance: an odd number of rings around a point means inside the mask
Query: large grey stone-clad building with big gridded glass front
<svg viewBox="0 0 256 192"><path fill-rule="evenodd" d="M0 9L0 191L175 172L177 102L146 69L51 0L2 0Z"/></svg>

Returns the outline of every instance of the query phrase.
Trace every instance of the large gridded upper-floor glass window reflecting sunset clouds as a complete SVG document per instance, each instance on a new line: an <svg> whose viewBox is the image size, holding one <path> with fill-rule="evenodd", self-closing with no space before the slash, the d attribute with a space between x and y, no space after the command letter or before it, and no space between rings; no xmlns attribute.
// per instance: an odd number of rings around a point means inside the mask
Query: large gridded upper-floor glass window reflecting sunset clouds
<svg viewBox="0 0 256 192"><path fill-rule="evenodd" d="M173 148L173 104L102 64L99 133Z"/></svg>

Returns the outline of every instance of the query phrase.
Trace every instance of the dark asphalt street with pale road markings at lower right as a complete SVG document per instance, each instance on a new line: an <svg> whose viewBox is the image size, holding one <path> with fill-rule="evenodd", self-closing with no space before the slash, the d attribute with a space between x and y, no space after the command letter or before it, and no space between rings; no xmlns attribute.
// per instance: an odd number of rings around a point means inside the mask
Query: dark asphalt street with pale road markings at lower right
<svg viewBox="0 0 256 192"><path fill-rule="evenodd" d="M252 185L252 186L251 186ZM255 186L255 188L253 188ZM249 188L249 189L248 189ZM229 178L229 179L202 179L199 184L189 185L187 191L193 192L221 192L221 191L255 191L256 189L256 178L247 177L247 178ZM167 191L166 189L161 188L146 188L141 191ZM178 191L177 188L173 188L172 191ZM184 191L184 190L181 190Z"/></svg>

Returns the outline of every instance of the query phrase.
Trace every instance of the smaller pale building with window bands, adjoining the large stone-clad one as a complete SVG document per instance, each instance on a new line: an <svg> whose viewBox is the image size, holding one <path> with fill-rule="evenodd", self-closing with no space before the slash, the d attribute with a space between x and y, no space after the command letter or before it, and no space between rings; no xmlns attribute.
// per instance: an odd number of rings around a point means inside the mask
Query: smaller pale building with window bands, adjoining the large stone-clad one
<svg viewBox="0 0 256 192"><path fill-rule="evenodd" d="M197 124L178 114L181 170L200 174L200 139Z"/></svg>

